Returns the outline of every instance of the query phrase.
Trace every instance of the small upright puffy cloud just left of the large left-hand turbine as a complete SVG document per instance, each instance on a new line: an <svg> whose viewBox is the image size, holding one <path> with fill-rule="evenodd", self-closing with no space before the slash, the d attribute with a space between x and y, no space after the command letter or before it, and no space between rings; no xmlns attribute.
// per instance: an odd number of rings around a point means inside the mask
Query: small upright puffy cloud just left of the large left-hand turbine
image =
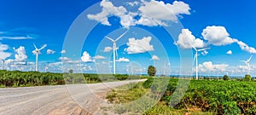
<svg viewBox="0 0 256 115"><path fill-rule="evenodd" d="M20 46L20 48L15 49L15 61L26 61L27 55L26 55L26 49L23 46Z"/></svg>

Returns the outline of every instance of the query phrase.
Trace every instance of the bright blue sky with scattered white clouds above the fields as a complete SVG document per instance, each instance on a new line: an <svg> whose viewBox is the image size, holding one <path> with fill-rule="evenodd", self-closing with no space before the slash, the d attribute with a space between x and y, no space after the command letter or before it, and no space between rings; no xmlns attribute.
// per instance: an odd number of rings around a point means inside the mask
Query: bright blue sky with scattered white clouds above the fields
<svg viewBox="0 0 256 115"><path fill-rule="evenodd" d="M189 50L193 53L186 57L191 61L195 54L186 41L192 42L198 49L211 47L205 54L199 55L201 75L247 73L247 66L240 60L247 60L251 55L256 54L254 51L256 35L253 34L256 26L255 1L138 0L134 2L132 0L125 3L116 0L3 0L0 3L0 54L2 55L0 57L8 60L7 67L10 70L34 70L35 55L32 54L34 49L32 43L38 47L47 44L47 47L41 50L42 55L39 55L40 72L44 72L45 69L50 72L65 72L70 68L74 70L79 68L76 72L96 72L98 69L106 69L99 72L111 72L113 54L104 52L104 49L112 47L112 43L104 36L119 37L129 28L129 32L117 43L119 48L117 58L121 59L117 62L119 73L131 73L129 70L131 67L127 66L132 65L139 65L140 67L135 70L144 73L149 65L155 65L158 73L162 74L166 70L164 65L171 65L171 74L178 74L181 66L179 51ZM104 9L107 12L102 13ZM132 20L128 20L129 16ZM146 21L146 19L150 20ZM122 20L126 20L127 23L121 23ZM92 24L96 26L89 31L89 26ZM72 35L72 26L76 25L82 27L75 28L74 31L79 29L78 32L81 33L73 35L73 38L67 37L69 34ZM170 35L166 28L175 31ZM203 30L205 30L204 36ZM88 33L88 36L83 35L85 33ZM179 37L182 33L183 36ZM79 41L78 39L83 39L82 49L74 49L76 48L74 44L63 49L67 47L65 41ZM144 49L127 45L129 40L130 43L137 43ZM61 54L61 50L66 50L66 53ZM228 55L228 51L232 53L229 52ZM68 63L64 70L61 68L61 60ZM20 61L27 63L19 65ZM188 68L193 67L191 63L188 63ZM252 75L256 75L255 63L256 60L252 59ZM102 65L106 65L106 68L100 68Z"/></svg>

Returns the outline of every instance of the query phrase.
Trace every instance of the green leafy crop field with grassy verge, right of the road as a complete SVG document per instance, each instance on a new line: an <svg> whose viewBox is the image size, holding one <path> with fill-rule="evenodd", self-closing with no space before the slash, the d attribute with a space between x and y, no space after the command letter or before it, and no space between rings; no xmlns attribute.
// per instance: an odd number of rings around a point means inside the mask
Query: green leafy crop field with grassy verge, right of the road
<svg viewBox="0 0 256 115"><path fill-rule="evenodd" d="M256 114L256 83L239 81L191 80L181 101L170 107L172 94L177 88L177 78L166 78L169 81L164 95L152 108L142 109L137 105L126 104L150 92L160 93L161 83L154 83L158 78L148 78L144 83L127 84L108 93L108 101L122 106L114 106L116 113L124 114ZM157 80L156 80L157 81ZM146 95L146 96L145 96ZM152 96L152 95L151 95ZM146 101L147 103L147 101ZM149 103L149 102L148 102ZM145 103L144 103L145 104ZM136 106L136 107L135 107ZM139 110L137 109L139 108Z"/></svg>

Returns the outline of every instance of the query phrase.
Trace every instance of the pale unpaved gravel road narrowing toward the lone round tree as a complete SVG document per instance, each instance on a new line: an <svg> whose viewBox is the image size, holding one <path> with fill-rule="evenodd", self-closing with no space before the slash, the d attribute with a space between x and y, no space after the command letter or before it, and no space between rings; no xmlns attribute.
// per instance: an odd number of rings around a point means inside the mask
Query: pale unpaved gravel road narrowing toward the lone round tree
<svg viewBox="0 0 256 115"><path fill-rule="evenodd" d="M0 114L102 114L110 89L138 81L144 80L0 89Z"/></svg>

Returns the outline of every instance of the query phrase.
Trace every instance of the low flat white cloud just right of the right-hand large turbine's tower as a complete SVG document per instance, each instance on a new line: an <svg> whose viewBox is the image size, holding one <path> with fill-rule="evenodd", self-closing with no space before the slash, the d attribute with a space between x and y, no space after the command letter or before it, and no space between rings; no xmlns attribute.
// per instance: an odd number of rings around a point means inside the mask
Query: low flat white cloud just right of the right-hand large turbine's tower
<svg viewBox="0 0 256 115"><path fill-rule="evenodd" d="M228 66L226 64L213 65L212 61L207 61L198 67L200 72L224 72Z"/></svg>

